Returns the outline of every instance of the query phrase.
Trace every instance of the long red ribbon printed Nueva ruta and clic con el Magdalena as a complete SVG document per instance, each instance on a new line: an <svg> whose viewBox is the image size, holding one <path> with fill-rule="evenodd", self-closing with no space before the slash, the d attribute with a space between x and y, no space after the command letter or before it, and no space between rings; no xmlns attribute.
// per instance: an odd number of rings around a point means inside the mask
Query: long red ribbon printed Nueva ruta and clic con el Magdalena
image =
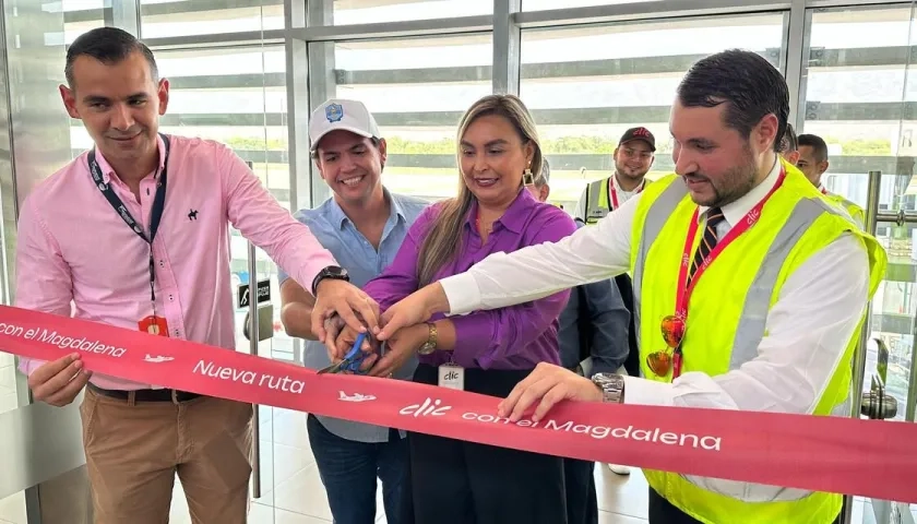
<svg viewBox="0 0 917 524"><path fill-rule="evenodd" d="M0 306L0 348L141 383L536 453L917 502L917 426L773 413L568 402L513 424L498 398L299 366Z"/></svg>

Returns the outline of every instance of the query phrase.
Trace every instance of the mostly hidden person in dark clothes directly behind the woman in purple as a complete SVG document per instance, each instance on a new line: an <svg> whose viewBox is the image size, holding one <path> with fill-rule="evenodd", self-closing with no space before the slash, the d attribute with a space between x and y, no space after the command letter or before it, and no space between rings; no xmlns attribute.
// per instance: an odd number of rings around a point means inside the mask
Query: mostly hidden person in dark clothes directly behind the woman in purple
<svg viewBox="0 0 917 524"><path fill-rule="evenodd" d="M545 159L532 194L541 202L550 195L550 165ZM576 226L584 223L576 221ZM576 286L558 319L557 340L560 364L583 377L615 373L628 357L630 311L624 307L615 279ZM626 467L626 466L616 466ZM598 501L595 463L564 458L568 524L596 524Z"/></svg>

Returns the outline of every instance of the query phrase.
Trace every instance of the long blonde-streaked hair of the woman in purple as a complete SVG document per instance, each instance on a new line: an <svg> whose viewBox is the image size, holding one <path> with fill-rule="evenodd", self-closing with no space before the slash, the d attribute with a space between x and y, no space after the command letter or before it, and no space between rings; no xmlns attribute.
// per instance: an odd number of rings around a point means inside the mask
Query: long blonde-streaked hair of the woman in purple
<svg viewBox="0 0 917 524"><path fill-rule="evenodd" d="M532 169L533 178L537 180L541 172L541 145L538 140L538 130L535 127L535 120L528 112L528 108L515 95L488 95L477 100L465 111L462 121L458 123L458 134L455 141L460 170L462 166L462 138L465 136L465 132L472 122L490 115L501 116L512 123L523 145L532 143L535 154L528 168ZM420 286L431 283L437 271L451 262L462 249L462 225L474 199L475 195L465 184L463 177L460 177L458 196L439 204L440 212L433 221L427 238L424 239L420 253L417 255L417 279Z"/></svg>

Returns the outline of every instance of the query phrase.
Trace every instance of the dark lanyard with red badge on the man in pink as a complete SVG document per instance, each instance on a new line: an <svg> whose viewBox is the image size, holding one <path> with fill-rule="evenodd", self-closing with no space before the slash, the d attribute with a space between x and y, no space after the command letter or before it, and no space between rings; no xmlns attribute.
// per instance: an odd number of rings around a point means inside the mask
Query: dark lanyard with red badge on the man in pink
<svg viewBox="0 0 917 524"><path fill-rule="evenodd" d="M163 142L166 144L166 158L165 162L163 162L163 170L159 172L156 183L156 195L153 199L153 209L150 213L148 236L144 233L143 226L130 214L128 207L124 205L124 202L122 202L118 194L115 193L111 186L105 182L105 178L102 176L102 167L99 167L98 160L96 160L95 150L90 152L87 160L90 165L90 174L93 177L93 182L95 182L96 188L98 188L108 203L111 204L111 207L118 213L118 216L120 216L128 227L130 227L136 236L143 239L150 248L150 301L152 303L153 314L139 320L138 329L152 335L169 336L169 327L166 323L165 317L156 314L156 264L153 257L153 240L156 238L156 231L159 230L159 222L163 219L163 211L166 206L166 183L168 181L167 170L169 162L169 139L162 133L159 136L163 138Z"/></svg>

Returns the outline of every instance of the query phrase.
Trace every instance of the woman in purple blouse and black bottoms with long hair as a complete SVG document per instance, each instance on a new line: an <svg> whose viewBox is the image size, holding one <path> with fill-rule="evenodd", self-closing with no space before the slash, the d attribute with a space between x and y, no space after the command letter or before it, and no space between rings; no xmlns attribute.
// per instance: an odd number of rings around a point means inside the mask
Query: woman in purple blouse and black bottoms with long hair
<svg viewBox="0 0 917 524"><path fill-rule="evenodd" d="M524 188L541 168L541 150L517 97L486 96L468 109L458 128L458 196L421 213L392 264L364 288L383 311L490 253L555 242L576 229ZM419 358L416 382L505 397L538 362L559 362L557 318L568 297L405 327L370 374L386 377ZM354 333L342 333L334 352L343 355L348 341ZM567 522L561 458L421 433L408 441L417 524Z"/></svg>

